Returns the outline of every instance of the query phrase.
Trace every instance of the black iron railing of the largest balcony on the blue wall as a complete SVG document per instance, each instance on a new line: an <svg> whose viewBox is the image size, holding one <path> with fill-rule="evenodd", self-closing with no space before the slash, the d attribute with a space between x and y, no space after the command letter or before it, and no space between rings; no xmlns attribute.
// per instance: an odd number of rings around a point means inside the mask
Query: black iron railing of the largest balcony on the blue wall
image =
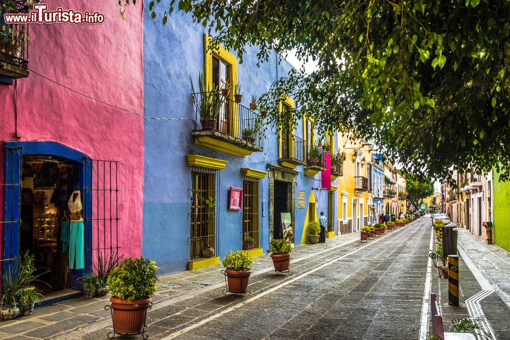
<svg viewBox="0 0 510 340"><path fill-rule="evenodd" d="M193 93L195 131L217 132L263 147L264 118L218 92ZM234 141L237 142L237 141Z"/></svg>

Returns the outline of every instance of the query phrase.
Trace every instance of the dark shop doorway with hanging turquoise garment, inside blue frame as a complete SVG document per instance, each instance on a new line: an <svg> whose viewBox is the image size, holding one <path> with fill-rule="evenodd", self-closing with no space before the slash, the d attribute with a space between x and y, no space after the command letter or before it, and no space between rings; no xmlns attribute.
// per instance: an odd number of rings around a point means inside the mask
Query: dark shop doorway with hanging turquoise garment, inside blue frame
<svg viewBox="0 0 510 340"><path fill-rule="evenodd" d="M44 294L71 288L72 269L84 268L83 222L81 236L74 233L79 222L70 223L81 218L81 209L68 206L69 198L81 206L80 178L78 165L64 158L22 156L19 253L34 256L36 274L47 283L34 284Z"/></svg>

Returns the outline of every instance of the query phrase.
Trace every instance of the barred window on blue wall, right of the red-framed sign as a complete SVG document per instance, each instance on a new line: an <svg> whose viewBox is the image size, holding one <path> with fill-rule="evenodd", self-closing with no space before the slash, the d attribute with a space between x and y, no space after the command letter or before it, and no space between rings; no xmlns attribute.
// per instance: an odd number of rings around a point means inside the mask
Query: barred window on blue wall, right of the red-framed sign
<svg viewBox="0 0 510 340"><path fill-rule="evenodd" d="M245 176L243 181L243 249L262 247L262 180Z"/></svg>

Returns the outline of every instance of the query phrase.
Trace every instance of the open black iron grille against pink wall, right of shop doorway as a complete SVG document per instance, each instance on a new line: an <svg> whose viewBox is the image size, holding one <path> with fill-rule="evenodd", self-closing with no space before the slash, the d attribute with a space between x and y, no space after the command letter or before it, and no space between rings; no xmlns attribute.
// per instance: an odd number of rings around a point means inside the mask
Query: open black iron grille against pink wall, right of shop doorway
<svg viewBox="0 0 510 340"><path fill-rule="evenodd" d="M99 257L119 254L119 162L86 159L84 223L85 268L94 271ZM88 187L90 185L90 187Z"/></svg>

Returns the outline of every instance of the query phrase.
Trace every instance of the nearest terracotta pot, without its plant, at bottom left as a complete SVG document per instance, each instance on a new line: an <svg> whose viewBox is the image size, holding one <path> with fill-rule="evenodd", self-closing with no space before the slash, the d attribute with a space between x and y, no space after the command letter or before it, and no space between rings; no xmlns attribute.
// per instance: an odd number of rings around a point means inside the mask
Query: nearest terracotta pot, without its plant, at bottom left
<svg viewBox="0 0 510 340"><path fill-rule="evenodd" d="M151 298L139 300L124 300L110 298L112 303L113 329L119 334L140 333L145 325L147 306Z"/></svg>

